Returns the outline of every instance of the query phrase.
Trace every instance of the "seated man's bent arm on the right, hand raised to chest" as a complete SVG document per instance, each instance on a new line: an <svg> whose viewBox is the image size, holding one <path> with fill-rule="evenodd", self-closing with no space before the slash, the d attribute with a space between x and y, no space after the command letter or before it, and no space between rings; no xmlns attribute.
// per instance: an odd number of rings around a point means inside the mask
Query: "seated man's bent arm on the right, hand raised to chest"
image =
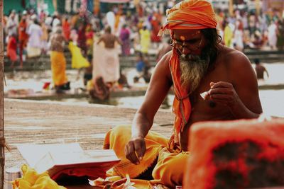
<svg viewBox="0 0 284 189"><path fill-rule="evenodd" d="M258 118L262 113L258 83L249 59L241 52L230 52L225 58L229 82L211 83L210 97L227 105L236 119Z"/></svg>

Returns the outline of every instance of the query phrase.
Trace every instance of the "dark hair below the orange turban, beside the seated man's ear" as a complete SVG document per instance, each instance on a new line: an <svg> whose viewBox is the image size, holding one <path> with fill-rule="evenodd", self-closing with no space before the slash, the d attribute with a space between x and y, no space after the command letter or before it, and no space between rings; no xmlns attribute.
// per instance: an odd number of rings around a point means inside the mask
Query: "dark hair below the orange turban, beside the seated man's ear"
<svg viewBox="0 0 284 189"><path fill-rule="evenodd" d="M204 38L207 40L206 49L209 51L210 64L212 64L218 55L218 45L222 37L218 34L216 28L205 28L201 30Z"/></svg>

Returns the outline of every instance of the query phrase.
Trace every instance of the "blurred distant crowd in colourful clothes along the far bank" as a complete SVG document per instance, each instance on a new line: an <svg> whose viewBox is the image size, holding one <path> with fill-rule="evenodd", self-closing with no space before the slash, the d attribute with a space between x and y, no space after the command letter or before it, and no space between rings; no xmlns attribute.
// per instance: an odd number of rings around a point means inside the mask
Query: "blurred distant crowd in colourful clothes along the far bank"
<svg viewBox="0 0 284 189"><path fill-rule="evenodd" d="M70 50L72 59L79 52L84 58L83 62L89 62L82 67L87 70L84 77L92 79L92 62L96 58L94 43L104 34L106 26L109 26L111 33L120 40L116 44L120 48L119 54L134 54L137 57L136 69L140 74L135 79L146 78L145 81L148 81L149 52L153 50L158 61L171 50L170 36L161 38L158 32L165 22L164 10L173 5L173 1L168 1L161 8L159 4L141 2L131 10L126 4L118 4L107 13L92 13L81 7L77 13L61 15L56 11L49 14L33 9L18 13L11 11L4 16L6 56L10 59L11 67L18 64L21 68L27 58L48 54L51 36L61 30L63 42L68 44L65 50ZM229 14L229 11L215 11L219 35L222 36L224 45L240 51L283 50L284 22L280 12L234 10L234 13ZM81 55L79 59L82 62ZM82 67L74 66L79 70Z"/></svg>

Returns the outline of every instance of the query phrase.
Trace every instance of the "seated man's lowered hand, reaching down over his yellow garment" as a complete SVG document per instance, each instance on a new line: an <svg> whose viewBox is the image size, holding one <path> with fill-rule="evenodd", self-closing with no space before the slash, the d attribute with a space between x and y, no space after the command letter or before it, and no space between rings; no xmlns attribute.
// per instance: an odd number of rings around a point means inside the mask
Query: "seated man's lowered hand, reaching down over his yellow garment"
<svg viewBox="0 0 284 189"><path fill-rule="evenodd" d="M146 143L144 137L132 137L124 149L126 158L136 165L140 164L145 152Z"/></svg>

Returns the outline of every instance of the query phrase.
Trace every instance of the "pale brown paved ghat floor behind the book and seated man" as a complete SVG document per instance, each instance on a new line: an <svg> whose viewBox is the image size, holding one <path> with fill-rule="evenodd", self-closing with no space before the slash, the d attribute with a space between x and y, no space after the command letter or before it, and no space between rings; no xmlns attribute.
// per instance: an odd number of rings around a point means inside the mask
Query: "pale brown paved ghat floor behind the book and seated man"
<svg viewBox="0 0 284 189"><path fill-rule="evenodd" d="M78 105L45 101L4 99L4 135L11 151L5 151L5 167L20 167L17 144L78 142L83 149L102 149L104 134L116 125L131 124L136 109L111 105ZM159 110L153 131L172 133L173 114ZM36 151L34 152L36 153Z"/></svg>

